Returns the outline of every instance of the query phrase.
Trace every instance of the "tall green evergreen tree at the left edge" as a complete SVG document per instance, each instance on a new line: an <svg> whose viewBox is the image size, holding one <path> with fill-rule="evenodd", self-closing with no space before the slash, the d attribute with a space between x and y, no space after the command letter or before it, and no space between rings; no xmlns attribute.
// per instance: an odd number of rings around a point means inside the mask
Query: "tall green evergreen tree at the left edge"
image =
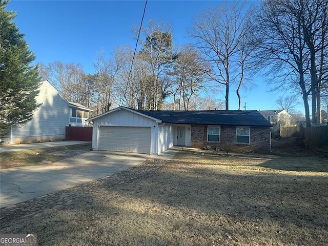
<svg viewBox="0 0 328 246"><path fill-rule="evenodd" d="M0 130L22 125L32 119L39 106L39 76L35 59L17 26L16 14L6 11L8 1L0 0Z"/></svg>

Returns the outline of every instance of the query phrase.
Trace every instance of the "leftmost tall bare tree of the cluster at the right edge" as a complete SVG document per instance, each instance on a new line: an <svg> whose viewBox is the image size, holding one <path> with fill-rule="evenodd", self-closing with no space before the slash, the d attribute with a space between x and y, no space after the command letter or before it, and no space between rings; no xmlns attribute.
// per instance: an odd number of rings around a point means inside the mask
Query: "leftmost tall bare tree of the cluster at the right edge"
<svg viewBox="0 0 328 246"><path fill-rule="evenodd" d="M280 0L262 2L255 15L253 28L259 44L257 65L264 68L267 75L273 75L270 81L277 85L276 89L301 90L306 125L310 126L309 52L302 34L301 13L293 14L281 3ZM256 68L259 69L258 66Z"/></svg>

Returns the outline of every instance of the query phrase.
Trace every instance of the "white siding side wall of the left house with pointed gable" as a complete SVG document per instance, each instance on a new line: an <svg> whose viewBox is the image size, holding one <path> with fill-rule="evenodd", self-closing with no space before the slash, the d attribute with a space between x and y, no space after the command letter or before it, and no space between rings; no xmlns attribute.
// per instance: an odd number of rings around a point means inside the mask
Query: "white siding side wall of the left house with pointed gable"
<svg viewBox="0 0 328 246"><path fill-rule="evenodd" d="M65 127L69 122L67 101L46 80L39 90L36 101L42 105L34 112L33 119L13 128L11 138L7 136L3 140L10 144L65 140Z"/></svg>

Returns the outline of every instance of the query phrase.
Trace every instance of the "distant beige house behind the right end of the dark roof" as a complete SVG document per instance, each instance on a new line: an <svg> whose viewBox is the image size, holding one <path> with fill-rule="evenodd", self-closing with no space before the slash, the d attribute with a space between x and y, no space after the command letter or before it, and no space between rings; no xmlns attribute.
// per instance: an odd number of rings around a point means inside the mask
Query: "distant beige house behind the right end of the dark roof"
<svg viewBox="0 0 328 246"><path fill-rule="evenodd" d="M277 136L280 136L281 127L291 126L292 115L284 109L260 110L259 112L272 124L272 132Z"/></svg>

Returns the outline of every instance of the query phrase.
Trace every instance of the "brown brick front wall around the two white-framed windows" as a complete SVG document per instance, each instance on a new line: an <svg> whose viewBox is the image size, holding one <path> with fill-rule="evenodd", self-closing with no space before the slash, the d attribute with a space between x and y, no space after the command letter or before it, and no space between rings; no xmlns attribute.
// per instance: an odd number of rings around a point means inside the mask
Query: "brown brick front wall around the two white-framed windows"
<svg viewBox="0 0 328 246"><path fill-rule="evenodd" d="M223 145L230 145L233 151L254 150L257 152L270 152L270 128L251 127L250 144L236 144L236 127L221 126L221 136L219 143L207 141L207 126L191 126L191 147L203 148L210 146L213 149L223 148Z"/></svg>

